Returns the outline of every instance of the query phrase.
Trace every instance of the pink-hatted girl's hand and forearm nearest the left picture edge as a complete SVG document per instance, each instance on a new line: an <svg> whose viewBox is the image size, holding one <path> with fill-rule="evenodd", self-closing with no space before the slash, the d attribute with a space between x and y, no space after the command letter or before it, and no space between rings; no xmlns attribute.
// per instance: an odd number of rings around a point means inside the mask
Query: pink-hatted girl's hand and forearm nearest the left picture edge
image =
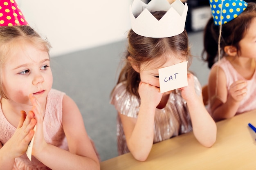
<svg viewBox="0 0 256 170"><path fill-rule="evenodd" d="M26 152L34 135L33 128L36 125L34 114L26 115L25 111L21 111L20 115L19 124L11 139L4 146L0 143L0 167L4 167L4 170L13 169L14 159Z"/></svg>

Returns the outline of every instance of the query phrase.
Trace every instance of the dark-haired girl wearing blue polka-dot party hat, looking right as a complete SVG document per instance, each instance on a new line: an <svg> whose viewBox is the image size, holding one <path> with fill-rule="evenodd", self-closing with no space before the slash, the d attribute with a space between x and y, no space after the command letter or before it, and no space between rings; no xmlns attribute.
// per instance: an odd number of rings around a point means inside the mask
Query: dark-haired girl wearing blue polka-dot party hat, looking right
<svg viewBox="0 0 256 170"><path fill-rule="evenodd" d="M203 52L211 68L209 112L218 121L256 109L256 4L243 0L210 0L210 4L213 18L204 30Z"/></svg>

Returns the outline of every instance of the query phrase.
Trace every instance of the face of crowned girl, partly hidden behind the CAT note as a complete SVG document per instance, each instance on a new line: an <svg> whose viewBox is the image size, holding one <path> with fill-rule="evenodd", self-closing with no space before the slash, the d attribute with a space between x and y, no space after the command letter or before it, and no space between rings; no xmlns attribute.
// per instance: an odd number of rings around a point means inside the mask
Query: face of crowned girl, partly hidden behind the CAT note
<svg viewBox="0 0 256 170"><path fill-rule="evenodd" d="M167 57L166 62L164 62L164 64L162 64L161 58L162 57L157 57L154 60L152 60L149 64L148 63L141 64L140 73L139 73L141 82L144 82L144 83L147 83L152 86L156 86L156 87L160 88L158 69L164 68L167 66L172 66L172 65L186 61L185 59L184 60L181 59L184 57L169 56L169 57Z"/></svg>

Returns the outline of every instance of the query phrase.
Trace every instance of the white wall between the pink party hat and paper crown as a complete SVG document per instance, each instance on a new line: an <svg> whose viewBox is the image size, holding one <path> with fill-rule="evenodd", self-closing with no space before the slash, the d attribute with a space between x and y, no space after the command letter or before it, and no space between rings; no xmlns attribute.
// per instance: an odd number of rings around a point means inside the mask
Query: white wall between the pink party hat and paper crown
<svg viewBox="0 0 256 170"><path fill-rule="evenodd" d="M116 42L130 29L132 0L16 0L31 27L52 44L51 57Z"/></svg>

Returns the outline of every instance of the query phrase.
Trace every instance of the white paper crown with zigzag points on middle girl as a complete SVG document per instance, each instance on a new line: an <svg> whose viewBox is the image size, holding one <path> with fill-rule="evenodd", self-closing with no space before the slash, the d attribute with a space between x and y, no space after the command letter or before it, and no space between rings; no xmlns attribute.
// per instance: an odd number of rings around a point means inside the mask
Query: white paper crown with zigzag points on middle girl
<svg viewBox="0 0 256 170"><path fill-rule="evenodd" d="M155 11L167 12L157 20L150 13ZM175 0L172 4L167 0L151 0L148 4L134 0L130 7L132 30L138 35L150 38L178 35L185 29L187 11L188 5L184 5L180 0Z"/></svg>

